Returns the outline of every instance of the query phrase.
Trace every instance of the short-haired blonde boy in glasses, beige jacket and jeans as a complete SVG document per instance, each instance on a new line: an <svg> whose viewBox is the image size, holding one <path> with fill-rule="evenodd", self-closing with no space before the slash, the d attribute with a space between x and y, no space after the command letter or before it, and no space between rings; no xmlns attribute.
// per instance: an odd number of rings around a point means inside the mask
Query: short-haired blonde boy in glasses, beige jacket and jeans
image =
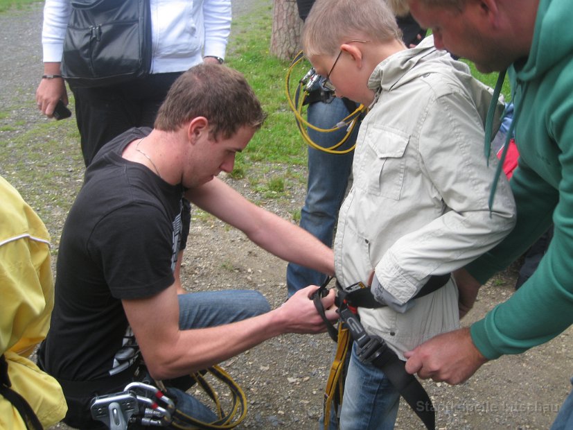
<svg viewBox="0 0 573 430"><path fill-rule="evenodd" d="M432 37L406 49L383 0L317 0L303 49L337 96L370 107L340 210L335 270L342 286L374 273L372 292L387 306L359 308L360 318L404 359L405 351L457 328L459 309L473 302L452 279L414 295L431 275L451 273L495 246L515 222L506 181L488 208L495 155L486 160L483 141L491 94L466 65L437 51ZM354 345L340 428L394 428L398 399Z"/></svg>

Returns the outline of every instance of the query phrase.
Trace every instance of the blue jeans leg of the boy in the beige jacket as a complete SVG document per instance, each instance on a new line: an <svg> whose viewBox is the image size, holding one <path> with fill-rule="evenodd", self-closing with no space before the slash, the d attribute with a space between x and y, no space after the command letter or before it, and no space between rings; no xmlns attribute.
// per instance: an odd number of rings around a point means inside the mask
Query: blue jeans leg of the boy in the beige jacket
<svg viewBox="0 0 573 430"><path fill-rule="evenodd" d="M394 429L400 394L382 370L362 363L356 343L346 372L340 430Z"/></svg>

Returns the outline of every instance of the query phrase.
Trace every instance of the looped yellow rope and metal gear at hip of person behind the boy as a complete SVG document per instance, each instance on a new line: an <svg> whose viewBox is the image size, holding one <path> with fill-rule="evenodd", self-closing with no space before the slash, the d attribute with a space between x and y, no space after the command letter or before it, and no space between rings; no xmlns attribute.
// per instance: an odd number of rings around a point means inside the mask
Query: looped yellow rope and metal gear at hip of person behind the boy
<svg viewBox="0 0 573 430"><path fill-rule="evenodd" d="M306 75L303 76L301 80L299 80L296 89L294 89L294 98L291 96L290 75L292 74L294 67L296 67L303 59L304 59L303 52L300 51L290 63L285 78L285 87L286 87L286 96L288 105L292 110L292 112L294 112L294 118L295 121L297 122L297 127L299 129L299 132L303 137L304 141L306 141L306 143L312 148L330 154L350 153L352 150L354 150L355 145L347 149L338 149L338 148L340 148L340 146L342 146L344 142L346 142L349 139L354 128L358 126L358 123L360 123L360 120L366 114L367 107L365 107L364 105L359 105L358 107L356 107L356 104L354 102L349 101L347 98L343 98L342 100L344 101L344 105L346 105L346 109L349 110L349 115L344 119L342 119L341 121L339 121L338 123L336 123L335 126L333 126L332 128L328 129L318 128L316 126L313 126L308 121L306 121L306 119L303 118L304 105L307 105L308 103L313 103L315 101L324 101L325 103L330 103L330 101L332 101L335 96L330 89L324 86L324 81L326 79L317 74L314 68L311 68L306 73ZM333 146L330 146L328 148L319 146L314 141L312 141L307 131L307 128L310 128L317 132L328 133L328 132L339 131L344 127L346 127L346 134L344 135L344 137L339 142L337 142L337 144L334 144Z"/></svg>

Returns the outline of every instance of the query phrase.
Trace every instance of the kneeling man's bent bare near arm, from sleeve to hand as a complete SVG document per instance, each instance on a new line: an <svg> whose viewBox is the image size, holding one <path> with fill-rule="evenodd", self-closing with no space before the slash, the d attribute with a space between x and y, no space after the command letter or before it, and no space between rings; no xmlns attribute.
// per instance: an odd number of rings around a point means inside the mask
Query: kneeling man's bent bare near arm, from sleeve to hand
<svg viewBox="0 0 573 430"><path fill-rule="evenodd" d="M326 331L324 321L310 300L317 287L298 291L281 307L246 320L217 327L179 330L173 312L175 291L164 291L147 300L124 300L146 365L155 379L170 379L202 370L284 333L315 334ZM322 299L329 320L336 320L334 291ZM248 306L248 304L245 304ZM160 322L149 313L164 315Z"/></svg>

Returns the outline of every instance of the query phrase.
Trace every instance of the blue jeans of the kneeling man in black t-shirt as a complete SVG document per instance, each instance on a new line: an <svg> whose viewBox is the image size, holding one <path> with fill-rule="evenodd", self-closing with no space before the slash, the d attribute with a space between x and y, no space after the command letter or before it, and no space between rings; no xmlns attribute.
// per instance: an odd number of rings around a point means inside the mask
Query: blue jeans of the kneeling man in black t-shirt
<svg viewBox="0 0 573 430"><path fill-rule="evenodd" d="M267 299L258 291L231 290L179 295L179 328L215 327L245 320L270 311ZM192 395L168 388L177 408L203 422L213 422L217 415Z"/></svg>

